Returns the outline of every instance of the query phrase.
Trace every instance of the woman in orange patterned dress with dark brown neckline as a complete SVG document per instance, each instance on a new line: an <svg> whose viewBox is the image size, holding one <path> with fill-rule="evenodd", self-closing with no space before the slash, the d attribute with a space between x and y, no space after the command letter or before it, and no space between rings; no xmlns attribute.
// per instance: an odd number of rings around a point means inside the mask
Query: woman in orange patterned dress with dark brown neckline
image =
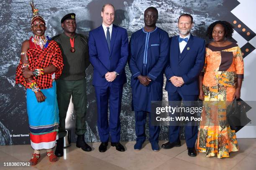
<svg viewBox="0 0 256 170"><path fill-rule="evenodd" d="M199 80L199 98L205 101L205 107L197 149L206 153L207 157L229 157L230 152L238 151L235 130L230 129L225 118L226 101L232 102L235 98L240 98L243 80L241 49L227 40L233 32L233 26L226 21L212 23L206 32L213 41L206 45L205 67ZM213 108L217 111L214 112ZM207 121L209 123L205 124Z"/></svg>

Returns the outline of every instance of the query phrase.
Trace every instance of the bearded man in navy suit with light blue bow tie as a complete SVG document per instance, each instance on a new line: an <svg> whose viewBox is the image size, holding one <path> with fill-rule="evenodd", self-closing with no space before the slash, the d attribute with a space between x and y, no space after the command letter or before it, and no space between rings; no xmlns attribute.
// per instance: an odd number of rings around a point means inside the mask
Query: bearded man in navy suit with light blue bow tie
<svg viewBox="0 0 256 170"><path fill-rule="evenodd" d="M170 38L169 64L165 70L165 90L168 92L169 101L195 101L198 97L198 76L205 63L205 40L190 34L192 26L192 16L181 15L178 21L179 35ZM170 105L175 107L174 103ZM174 115L177 114L179 113ZM162 148L181 146L179 130L179 125L169 126L169 142L164 143ZM185 125L189 156L197 155L195 150L197 131L197 126L192 125L192 122Z"/></svg>

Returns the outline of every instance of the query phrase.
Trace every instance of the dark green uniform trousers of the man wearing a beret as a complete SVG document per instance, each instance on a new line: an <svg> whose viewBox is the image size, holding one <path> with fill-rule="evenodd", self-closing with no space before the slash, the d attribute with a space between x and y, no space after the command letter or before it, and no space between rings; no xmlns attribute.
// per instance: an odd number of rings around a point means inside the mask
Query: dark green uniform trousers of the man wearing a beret
<svg viewBox="0 0 256 170"><path fill-rule="evenodd" d="M86 82L81 80L56 80L57 99L59 105L59 138L66 135L65 120L69 107L70 97L74 104L76 114L76 131L77 135L85 133L85 115L86 115Z"/></svg>

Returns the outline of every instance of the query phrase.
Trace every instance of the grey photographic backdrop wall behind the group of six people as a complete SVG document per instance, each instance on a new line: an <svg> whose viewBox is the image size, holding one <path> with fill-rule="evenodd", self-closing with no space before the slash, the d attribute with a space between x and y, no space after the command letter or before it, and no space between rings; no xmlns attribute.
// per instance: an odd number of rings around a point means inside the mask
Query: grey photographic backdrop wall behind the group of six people
<svg viewBox="0 0 256 170"><path fill-rule="evenodd" d="M169 36L178 35L179 15L189 13L194 18L192 34L205 37L207 27L216 20L227 20L235 26L233 42L237 42L243 52L245 78L241 98L255 100L256 82L256 23L252 22L256 6L254 0L35 0L39 14L46 20L46 35L53 37L62 32L61 18L67 13L76 13L77 33L88 35L89 31L102 24L100 16L102 5L115 6L114 24L126 28L129 38L136 30L143 28L143 12L147 7L159 11L157 26L166 30ZM24 40L33 34L30 31L32 18L29 1L1 0L0 2L0 145L30 144L28 116L26 112L26 90L15 85L15 70L20 60L20 48ZM90 65L87 73L87 116L85 135L87 142L99 141L97 133L97 107L92 86ZM127 83L123 88L121 109L121 140L136 140L134 112L131 110L131 72L125 67ZM164 90L164 88L163 88ZM164 91L164 99L167 93ZM249 116L248 116L249 117ZM66 128L71 130L75 141L75 114L72 102L67 113ZM146 126L147 127L147 126ZM146 128L147 129L147 128ZM245 129L245 130L244 130ZM248 131L249 130L249 131ZM148 134L148 129L146 130ZM167 139L167 126L161 126L160 140ZM184 138L184 128L182 128ZM238 132L238 138L256 138L256 128L246 126Z"/></svg>

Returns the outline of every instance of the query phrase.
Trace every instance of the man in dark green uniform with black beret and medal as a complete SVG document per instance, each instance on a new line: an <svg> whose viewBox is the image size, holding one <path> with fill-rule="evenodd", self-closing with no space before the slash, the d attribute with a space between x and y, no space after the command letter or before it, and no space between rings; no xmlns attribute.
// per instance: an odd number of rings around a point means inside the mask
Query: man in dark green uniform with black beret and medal
<svg viewBox="0 0 256 170"><path fill-rule="evenodd" d="M84 142L85 115L86 115L86 82L85 70L90 65L88 55L87 37L76 33L76 15L70 13L61 19L62 34L56 35L52 40L61 48L64 68L57 82L57 97L59 105L59 140L55 155L63 156L63 138L66 135L65 119L69 107L70 97L76 113L77 147L84 151L92 148Z"/></svg>

